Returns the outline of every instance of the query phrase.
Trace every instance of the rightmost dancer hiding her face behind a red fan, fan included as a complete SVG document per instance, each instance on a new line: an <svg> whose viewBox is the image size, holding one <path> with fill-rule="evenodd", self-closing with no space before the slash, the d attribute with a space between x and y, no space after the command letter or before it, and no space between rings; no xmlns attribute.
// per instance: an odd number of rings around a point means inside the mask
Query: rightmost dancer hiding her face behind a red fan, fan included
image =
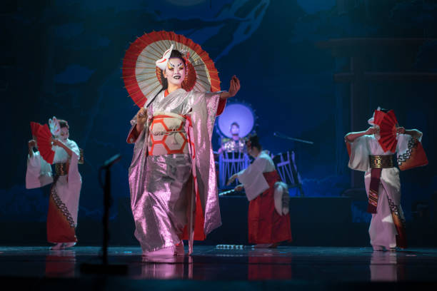
<svg viewBox="0 0 437 291"><path fill-rule="evenodd" d="M427 165L422 133L398 127L393 111L378 108L367 131L345 136L349 168L366 172L367 211L372 214L368 233L373 250L405 248L405 218L401 208L399 169ZM398 168L396 168L398 165Z"/></svg>

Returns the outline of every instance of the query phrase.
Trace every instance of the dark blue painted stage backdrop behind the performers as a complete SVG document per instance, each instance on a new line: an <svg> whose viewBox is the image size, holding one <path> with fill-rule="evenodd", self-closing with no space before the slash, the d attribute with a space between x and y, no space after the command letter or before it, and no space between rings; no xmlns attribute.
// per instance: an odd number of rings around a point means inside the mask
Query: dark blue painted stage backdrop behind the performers
<svg viewBox="0 0 437 291"><path fill-rule="evenodd" d="M222 89L233 74L240 78L241 91L229 102L250 104L264 148L296 151L307 196L341 196L351 188L343 136L368 128L377 106L393 108L401 126L423 131L430 163L401 173L406 217L413 218L417 203L432 211L437 4L431 1L6 1L1 9L0 220L46 219L49 188L26 190L24 178L29 122L51 116L66 119L71 139L84 149L79 219L101 218L98 169L116 153L122 160L112 168L114 200L129 197L133 146L126 135L138 108L124 89L121 63L137 36L160 30L201 44L216 62ZM275 131L313 145L276 138ZM217 141L215 134L215 150ZM355 221L368 220L364 209L353 205ZM114 203L112 218L116 210Z"/></svg>

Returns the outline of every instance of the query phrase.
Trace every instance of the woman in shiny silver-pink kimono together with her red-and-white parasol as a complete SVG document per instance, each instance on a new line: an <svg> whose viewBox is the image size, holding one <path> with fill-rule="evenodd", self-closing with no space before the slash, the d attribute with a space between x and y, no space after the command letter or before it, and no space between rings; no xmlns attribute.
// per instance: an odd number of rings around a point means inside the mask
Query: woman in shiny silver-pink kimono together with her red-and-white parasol
<svg viewBox="0 0 437 291"><path fill-rule="evenodd" d="M211 135L236 76L220 90L201 46L166 31L144 34L126 51L126 90L141 108L131 121L129 168L135 236L145 256L184 254L221 225Z"/></svg>

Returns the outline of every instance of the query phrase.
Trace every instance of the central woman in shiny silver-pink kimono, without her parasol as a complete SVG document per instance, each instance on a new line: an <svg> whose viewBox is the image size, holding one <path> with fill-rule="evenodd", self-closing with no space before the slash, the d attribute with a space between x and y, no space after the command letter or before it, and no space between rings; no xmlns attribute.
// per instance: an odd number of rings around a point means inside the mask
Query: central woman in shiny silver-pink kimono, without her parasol
<svg viewBox="0 0 437 291"><path fill-rule="evenodd" d="M217 186L211 178L216 176L211 134L219 101L235 96L240 88L233 76L228 92L185 91L182 83L190 73L187 59L172 48L156 61L163 88L139 110L128 136L128 142L135 143L129 168L135 236L146 256L184 254L182 239L188 238L184 228L189 228L187 209L194 176L200 198L196 199L194 239L204 239L221 225Z"/></svg>

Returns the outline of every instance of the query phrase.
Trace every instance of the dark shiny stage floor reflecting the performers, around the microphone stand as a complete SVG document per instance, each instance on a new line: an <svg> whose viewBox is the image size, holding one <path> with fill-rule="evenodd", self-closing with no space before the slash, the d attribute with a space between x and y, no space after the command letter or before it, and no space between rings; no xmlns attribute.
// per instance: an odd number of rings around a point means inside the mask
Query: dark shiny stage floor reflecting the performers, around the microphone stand
<svg viewBox="0 0 437 291"><path fill-rule="evenodd" d="M288 280L295 282L436 282L437 249L373 252L370 247L223 249L195 246L194 254L148 260L139 247L109 247L110 265L126 265L124 279ZM0 247L0 278L92 278L101 247ZM85 265L84 265L85 264ZM91 273L86 272L88 267ZM114 275L111 275L114 276ZM18 280L17 280L18 281Z"/></svg>

